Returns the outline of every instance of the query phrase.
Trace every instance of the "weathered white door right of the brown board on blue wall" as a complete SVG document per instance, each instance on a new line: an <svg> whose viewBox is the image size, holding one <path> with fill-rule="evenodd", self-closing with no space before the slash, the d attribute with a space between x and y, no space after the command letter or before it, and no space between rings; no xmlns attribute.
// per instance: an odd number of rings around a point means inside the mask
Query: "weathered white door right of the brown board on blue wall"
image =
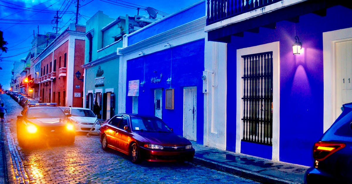
<svg viewBox="0 0 352 184"><path fill-rule="evenodd" d="M183 136L197 141L197 87L183 88Z"/></svg>

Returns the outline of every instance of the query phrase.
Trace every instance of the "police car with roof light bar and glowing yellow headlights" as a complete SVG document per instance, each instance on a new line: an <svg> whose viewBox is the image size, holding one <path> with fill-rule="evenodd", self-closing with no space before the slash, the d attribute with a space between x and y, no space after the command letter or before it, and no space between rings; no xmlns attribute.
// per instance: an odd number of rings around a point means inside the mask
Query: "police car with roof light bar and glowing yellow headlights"
<svg viewBox="0 0 352 184"><path fill-rule="evenodd" d="M17 139L23 148L45 141L75 142L75 126L56 103L29 103L17 116Z"/></svg>

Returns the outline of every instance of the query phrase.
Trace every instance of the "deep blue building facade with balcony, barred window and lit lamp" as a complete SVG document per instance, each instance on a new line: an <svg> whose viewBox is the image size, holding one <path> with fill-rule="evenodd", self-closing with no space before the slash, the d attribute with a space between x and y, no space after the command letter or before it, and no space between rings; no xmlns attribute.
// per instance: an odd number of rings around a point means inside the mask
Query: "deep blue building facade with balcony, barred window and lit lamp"
<svg viewBox="0 0 352 184"><path fill-rule="evenodd" d="M209 41L227 43L227 90L235 92L227 93L236 105L227 105L226 149L312 166L314 143L352 101L352 22L343 18L351 7L236 1L226 17L208 3L205 31Z"/></svg>

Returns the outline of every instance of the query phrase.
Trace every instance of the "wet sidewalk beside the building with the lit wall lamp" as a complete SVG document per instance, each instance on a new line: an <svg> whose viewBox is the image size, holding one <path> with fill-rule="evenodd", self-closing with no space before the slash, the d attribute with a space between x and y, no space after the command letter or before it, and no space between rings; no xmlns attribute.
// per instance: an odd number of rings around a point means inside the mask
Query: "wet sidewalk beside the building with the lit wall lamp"
<svg viewBox="0 0 352 184"><path fill-rule="evenodd" d="M272 161L241 153L199 145L191 141L196 153L193 161L215 170L233 173L260 183L304 183L307 166Z"/></svg>

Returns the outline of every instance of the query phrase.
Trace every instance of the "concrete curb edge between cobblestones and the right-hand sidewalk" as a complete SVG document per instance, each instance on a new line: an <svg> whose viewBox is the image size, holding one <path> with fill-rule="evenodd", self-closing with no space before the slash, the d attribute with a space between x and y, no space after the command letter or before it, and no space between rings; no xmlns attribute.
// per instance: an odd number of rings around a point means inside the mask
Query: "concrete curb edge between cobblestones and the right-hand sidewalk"
<svg viewBox="0 0 352 184"><path fill-rule="evenodd" d="M193 160L191 162L208 167L208 168L212 168L212 169L215 169L218 171L232 173L237 176L251 179L251 180L254 180L254 181L260 182L260 183L296 184L292 181L285 180L282 178L276 178L276 177L268 176L265 174L257 173L254 171L244 170L242 168L221 164L219 162L209 161L206 159L198 158L196 156L193 158Z"/></svg>

